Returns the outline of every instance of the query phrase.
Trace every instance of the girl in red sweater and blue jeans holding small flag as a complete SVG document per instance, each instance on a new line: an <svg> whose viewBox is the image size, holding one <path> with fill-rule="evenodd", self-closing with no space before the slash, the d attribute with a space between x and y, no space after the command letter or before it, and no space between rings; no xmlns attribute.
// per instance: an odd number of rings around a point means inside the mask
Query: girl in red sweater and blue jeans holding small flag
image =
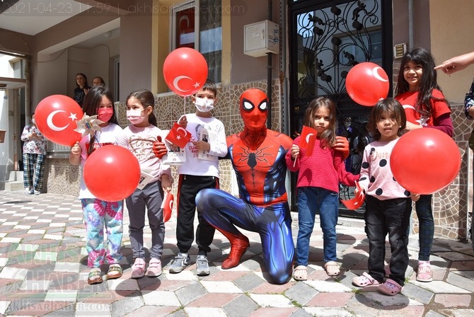
<svg viewBox="0 0 474 317"><path fill-rule="evenodd" d="M287 152L286 160L290 171L298 174L298 223L296 239L296 263L293 277L304 281L308 278L309 240L313 232L316 212L320 214L323 230L323 251L325 270L329 276L340 274L336 257L336 224L339 212L339 183L355 186L359 175L345 171L341 151L331 146L336 142L335 105L329 98L316 98L306 109L304 125L316 129L317 136L313 154L306 155L300 149L301 137L296 137Z"/></svg>

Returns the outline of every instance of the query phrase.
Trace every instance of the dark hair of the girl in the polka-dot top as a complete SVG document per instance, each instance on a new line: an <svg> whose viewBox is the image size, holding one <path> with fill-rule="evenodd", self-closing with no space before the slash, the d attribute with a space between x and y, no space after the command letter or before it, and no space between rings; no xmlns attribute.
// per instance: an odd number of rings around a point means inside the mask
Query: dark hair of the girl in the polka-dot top
<svg viewBox="0 0 474 317"><path fill-rule="evenodd" d="M372 108L369 123L367 124L367 130L371 132L374 136L374 139L378 141L382 136L377 129L377 122L380 121L382 115L386 113L391 119L395 120L398 125L398 137L401 137L403 130L407 127L407 117L405 115L405 110L403 110L402 105L393 98L386 98L378 101L374 108Z"/></svg>

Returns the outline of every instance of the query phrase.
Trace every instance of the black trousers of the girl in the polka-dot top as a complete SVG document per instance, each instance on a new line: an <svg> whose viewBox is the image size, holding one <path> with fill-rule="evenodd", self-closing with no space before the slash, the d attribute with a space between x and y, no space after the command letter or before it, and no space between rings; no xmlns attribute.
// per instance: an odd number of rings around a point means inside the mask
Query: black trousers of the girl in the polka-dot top
<svg viewBox="0 0 474 317"><path fill-rule="evenodd" d="M405 271L408 267L408 235L412 200L397 198L378 200L366 197L365 232L369 238L369 275L383 282L385 275L385 239L391 248L390 278L400 285L405 283Z"/></svg>

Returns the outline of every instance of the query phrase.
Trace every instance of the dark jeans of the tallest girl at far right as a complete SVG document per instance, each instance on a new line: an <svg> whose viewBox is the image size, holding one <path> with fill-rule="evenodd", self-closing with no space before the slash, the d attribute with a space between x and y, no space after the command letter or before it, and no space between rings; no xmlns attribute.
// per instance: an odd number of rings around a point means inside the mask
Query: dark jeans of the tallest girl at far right
<svg viewBox="0 0 474 317"><path fill-rule="evenodd" d="M415 202L415 209L420 223L420 230L418 231L420 241L418 260L420 261L429 261L429 253L431 253L433 246L434 219L432 196L433 195L420 195L420 200Z"/></svg>

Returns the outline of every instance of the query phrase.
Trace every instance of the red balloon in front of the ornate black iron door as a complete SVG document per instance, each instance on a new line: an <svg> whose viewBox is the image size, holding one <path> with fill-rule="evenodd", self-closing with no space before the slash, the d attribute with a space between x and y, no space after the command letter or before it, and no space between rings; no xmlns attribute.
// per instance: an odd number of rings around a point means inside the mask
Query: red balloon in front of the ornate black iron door
<svg viewBox="0 0 474 317"><path fill-rule="evenodd" d="M347 93L359 105L375 105L387 98L389 88L387 73L375 63L359 63L347 73Z"/></svg>

